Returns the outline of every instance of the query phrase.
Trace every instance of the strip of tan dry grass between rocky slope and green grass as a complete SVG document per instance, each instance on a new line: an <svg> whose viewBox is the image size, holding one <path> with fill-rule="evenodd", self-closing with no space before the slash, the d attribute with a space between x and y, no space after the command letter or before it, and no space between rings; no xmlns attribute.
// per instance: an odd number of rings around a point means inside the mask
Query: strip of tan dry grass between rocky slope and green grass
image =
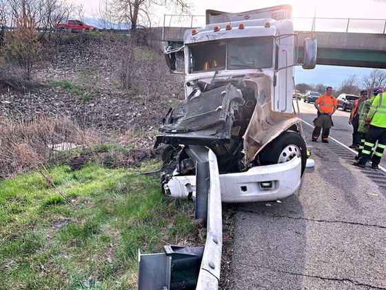
<svg viewBox="0 0 386 290"><path fill-rule="evenodd" d="M0 179L32 168L43 174L45 166L57 164L68 164L72 170L83 167L87 162L109 168L136 166L145 158L156 156L156 151L143 146L145 142L153 142L151 138L151 133L139 134L130 130L104 133L89 128L84 131L65 117L2 121ZM49 177L46 180L49 182Z"/></svg>

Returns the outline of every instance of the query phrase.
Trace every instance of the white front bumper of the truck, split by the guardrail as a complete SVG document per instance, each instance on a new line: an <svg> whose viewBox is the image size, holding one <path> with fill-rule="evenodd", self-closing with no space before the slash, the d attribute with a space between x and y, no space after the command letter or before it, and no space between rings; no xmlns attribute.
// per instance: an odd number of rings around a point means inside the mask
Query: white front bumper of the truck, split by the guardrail
<svg viewBox="0 0 386 290"><path fill-rule="evenodd" d="M222 202L267 202L292 195L301 184L301 158L220 175ZM196 176L173 176L165 189L173 196L196 193Z"/></svg>

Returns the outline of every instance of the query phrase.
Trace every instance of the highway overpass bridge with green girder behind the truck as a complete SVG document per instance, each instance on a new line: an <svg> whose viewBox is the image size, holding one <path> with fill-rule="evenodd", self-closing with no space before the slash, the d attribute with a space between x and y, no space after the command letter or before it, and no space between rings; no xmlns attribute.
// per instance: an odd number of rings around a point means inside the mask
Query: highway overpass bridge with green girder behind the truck
<svg viewBox="0 0 386 290"><path fill-rule="evenodd" d="M181 46L183 32L192 28L163 27L162 40ZM312 32L318 41L316 64L386 68L386 34L354 32ZM299 54L303 55L303 39L299 37Z"/></svg>

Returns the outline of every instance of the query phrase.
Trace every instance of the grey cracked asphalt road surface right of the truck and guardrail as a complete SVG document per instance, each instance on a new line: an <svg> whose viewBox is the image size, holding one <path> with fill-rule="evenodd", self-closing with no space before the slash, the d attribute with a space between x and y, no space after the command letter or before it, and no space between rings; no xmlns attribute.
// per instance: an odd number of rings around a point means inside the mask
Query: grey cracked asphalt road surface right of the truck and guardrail
<svg viewBox="0 0 386 290"><path fill-rule="evenodd" d="M314 104L299 106L315 166L294 195L237 205L228 289L386 289L386 171L352 166L349 112L315 143Z"/></svg>

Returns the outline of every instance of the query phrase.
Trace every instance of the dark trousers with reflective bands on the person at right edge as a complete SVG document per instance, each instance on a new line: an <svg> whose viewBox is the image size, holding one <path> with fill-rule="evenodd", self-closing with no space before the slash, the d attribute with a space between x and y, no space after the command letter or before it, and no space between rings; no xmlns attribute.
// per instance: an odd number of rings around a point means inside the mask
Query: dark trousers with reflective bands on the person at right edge
<svg viewBox="0 0 386 290"><path fill-rule="evenodd" d="M374 146L377 141L378 141L378 145L374 150ZM371 156L372 163L379 164L380 158L382 157L383 151L385 151L385 148L386 148L386 128L371 125L369 128L369 131L366 134L365 146L363 146L363 150L360 153L360 158L358 163L365 165Z"/></svg>

